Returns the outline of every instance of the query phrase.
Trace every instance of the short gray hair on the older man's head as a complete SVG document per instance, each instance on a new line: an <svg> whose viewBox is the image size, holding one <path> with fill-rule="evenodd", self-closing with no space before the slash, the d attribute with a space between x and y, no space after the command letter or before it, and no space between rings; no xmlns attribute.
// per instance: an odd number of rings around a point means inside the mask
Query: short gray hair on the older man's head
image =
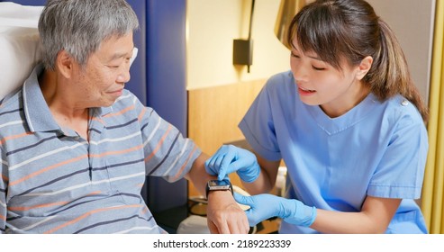
<svg viewBox="0 0 444 252"><path fill-rule="evenodd" d="M137 15L125 0L48 0L39 20L43 64L54 70L64 49L85 66L102 41L138 28Z"/></svg>

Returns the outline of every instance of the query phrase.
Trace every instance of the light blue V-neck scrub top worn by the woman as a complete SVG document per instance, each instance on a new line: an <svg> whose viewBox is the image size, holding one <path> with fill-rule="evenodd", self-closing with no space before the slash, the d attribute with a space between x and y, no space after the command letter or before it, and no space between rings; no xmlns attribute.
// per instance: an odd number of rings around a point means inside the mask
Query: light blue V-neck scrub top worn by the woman
<svg viewBox="0 0 444 252"><path fill-rule="evenodd" d="M402 198L387 233L426 233L421 197L427 130L403 96L374 94L330 118L303 103L291 71L272 76L240 121L251 147L267 160L284 159L287 197L330 211L360 211L367 195ZM281 233L314 229L282 222Z"/></svg>

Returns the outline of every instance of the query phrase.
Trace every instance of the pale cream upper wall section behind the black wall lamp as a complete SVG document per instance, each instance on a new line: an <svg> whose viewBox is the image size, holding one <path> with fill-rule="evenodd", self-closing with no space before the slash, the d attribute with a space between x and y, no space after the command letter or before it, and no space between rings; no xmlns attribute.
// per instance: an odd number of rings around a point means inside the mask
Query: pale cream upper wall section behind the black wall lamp
<svg viewBox="0 0 444 252"><path fill-rule="evenodd" d="M247 39L251 0L188 0L187 89L267 78L289 69L289 50L274 35L278 0L256 0L253 65L232 65L232 40Z"/></svg>

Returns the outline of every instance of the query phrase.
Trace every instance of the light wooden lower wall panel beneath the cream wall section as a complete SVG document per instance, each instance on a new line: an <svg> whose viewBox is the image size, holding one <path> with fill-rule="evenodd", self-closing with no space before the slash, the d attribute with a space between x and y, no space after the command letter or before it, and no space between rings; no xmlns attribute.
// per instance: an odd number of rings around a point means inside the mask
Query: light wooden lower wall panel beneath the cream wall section
<svg viewBox="0 0 444 252"><path fill-rule="evenodd" d="M238 124L266 79L188 90L188 137L208 154L222 144L243 139ZM240 185L235 176L233 184ZM198 195L189 186L189 196Z"/></svg>

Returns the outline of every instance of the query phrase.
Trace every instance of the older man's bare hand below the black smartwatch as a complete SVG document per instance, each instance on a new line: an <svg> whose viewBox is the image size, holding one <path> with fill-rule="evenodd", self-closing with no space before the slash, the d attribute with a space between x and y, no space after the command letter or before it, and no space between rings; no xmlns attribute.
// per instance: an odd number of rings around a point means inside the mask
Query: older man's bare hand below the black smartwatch
<svg viewBox="0 0 444 252"><path fill-rule="evenodd" d="M213 234L249 232L249 220L229 191L212 191L208 194L206 217Z"/></svg>

